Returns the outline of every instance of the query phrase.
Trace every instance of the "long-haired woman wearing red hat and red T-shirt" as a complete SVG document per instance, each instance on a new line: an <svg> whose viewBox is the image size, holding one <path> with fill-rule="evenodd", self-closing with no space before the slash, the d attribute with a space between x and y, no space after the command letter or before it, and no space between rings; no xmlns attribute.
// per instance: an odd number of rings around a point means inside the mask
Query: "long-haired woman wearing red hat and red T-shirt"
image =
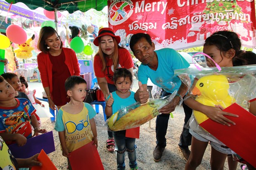
<svg viewBox="0 0 256 170"><path fill-rule="evenodd" d="M116 91L113 75L117 68L126 68L133 75L133 59L127 49L118 45L120 41L120 36L115 35L111 28L101 28L93 41L93 44L99 47L99 51L94 56L94 72L105 99L109 93ZM114 151L114 138L109 130L108 135L107 149Z"/></svg>

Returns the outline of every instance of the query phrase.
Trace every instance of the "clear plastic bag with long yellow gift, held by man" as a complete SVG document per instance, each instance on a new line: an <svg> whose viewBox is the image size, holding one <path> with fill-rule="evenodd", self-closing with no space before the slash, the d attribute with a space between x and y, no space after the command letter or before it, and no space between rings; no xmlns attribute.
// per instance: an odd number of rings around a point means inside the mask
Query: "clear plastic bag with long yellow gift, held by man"
<svg viewBox="0 0 256 170"><path fill-rule="evenodd" d="M141 126L156 117L159 114L158 110L171 102L176 94L177 91L174 91L171 95L167 95L164 98L149 99L145 104L136 102L112 114L106 123L112 131Z"/></svg>

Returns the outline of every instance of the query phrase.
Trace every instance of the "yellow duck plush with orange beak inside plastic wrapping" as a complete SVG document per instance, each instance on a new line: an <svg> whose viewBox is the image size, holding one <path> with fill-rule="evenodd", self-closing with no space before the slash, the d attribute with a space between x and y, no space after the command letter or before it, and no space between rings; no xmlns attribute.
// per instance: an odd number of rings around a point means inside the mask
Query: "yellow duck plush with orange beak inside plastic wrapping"
<svg viewBox="0 0 256 170"><path fill-rule="evenodd" d="M192 90L193 95L197 95L196 101L207 106L221 105L223 108L235 102L229 93L228 79L224 75L207 75L201 77ZM194 110L194 117L197 123L209 119L202 112Z"/></svg>

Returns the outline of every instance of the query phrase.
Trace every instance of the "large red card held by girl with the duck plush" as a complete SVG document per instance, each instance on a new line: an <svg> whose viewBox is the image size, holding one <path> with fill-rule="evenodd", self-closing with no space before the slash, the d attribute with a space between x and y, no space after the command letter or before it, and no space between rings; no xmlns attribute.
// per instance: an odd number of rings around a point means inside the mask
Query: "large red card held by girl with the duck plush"
<svg viewBox="0 0 256 170"><path fill-rule="evenodd" d="M234 121L235 126L225 126L211 119L202 122L200 126L256 167L256 116L236 103L223 111L239 115L239 117L225 116Z"/></svg>

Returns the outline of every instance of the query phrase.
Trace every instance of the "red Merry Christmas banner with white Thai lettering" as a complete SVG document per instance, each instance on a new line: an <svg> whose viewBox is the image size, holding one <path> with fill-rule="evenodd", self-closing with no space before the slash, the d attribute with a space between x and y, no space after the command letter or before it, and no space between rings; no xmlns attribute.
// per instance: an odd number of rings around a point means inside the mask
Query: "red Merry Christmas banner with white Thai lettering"
<svg viewBox="0 0 256 170"><path fill-rule="evenodd" d="M108 7L109 27L127 49L135 33L151 35L156 49L178 50L201 46L220 30L256 47L254 0L108 0Z"/></svg>

